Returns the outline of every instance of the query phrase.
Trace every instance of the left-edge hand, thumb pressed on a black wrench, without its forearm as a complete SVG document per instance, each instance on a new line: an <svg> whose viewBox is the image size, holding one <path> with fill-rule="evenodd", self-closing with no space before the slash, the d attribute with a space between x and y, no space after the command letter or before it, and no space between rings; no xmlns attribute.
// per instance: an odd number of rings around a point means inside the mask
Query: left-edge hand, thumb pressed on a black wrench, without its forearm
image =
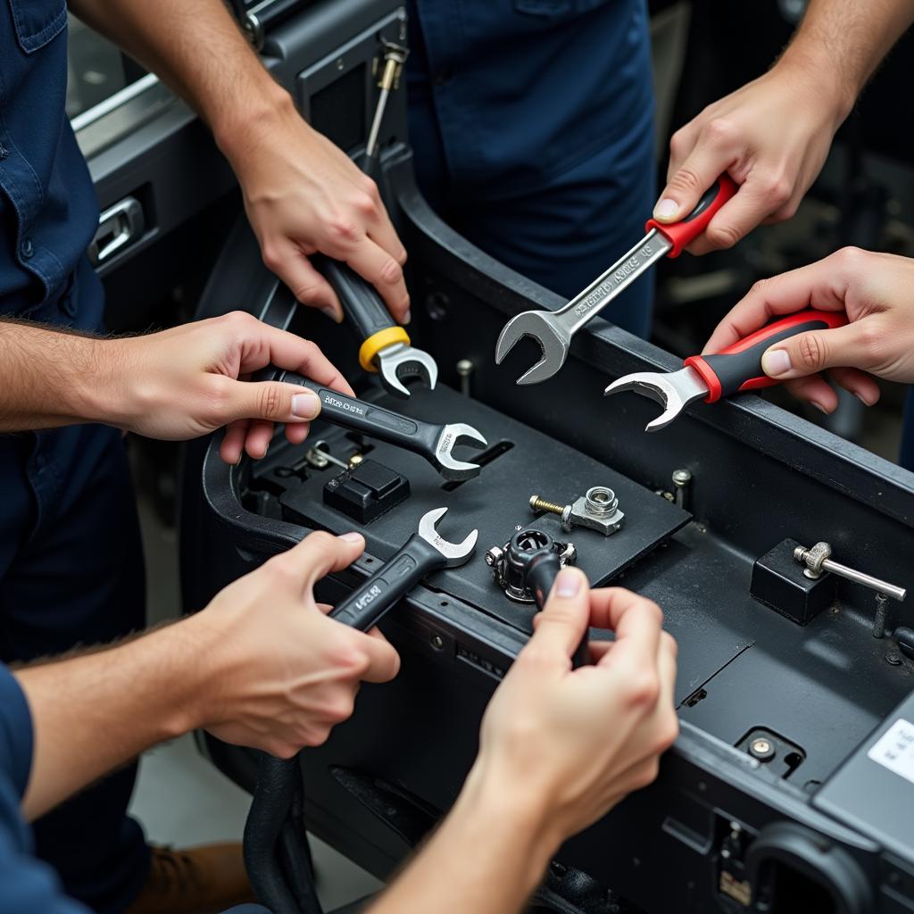
<svg viewBox="0 0 914 914"><path fill-rule="evenodd" d="M259 368L287 368L353 392L314 343L243 312L101 345L111 354L105 389L115 395L106 421L166 441L228 425L220 453L229 463L239 462L242 451L263 457L274 422L285 422L286 437L300 444L308 420L321 411L320 399L307 388L243 380Z"/></svg>

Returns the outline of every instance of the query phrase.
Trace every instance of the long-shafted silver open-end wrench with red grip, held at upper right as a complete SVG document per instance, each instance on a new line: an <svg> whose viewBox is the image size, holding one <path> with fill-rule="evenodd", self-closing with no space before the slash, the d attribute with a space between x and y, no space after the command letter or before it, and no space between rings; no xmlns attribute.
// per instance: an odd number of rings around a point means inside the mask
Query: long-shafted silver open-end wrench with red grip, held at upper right
<svg viewBox="0 0 914 914"><path fill-rule="evenodd" d="M736 191L733 179L726 174L720 175L684 219L669 225L648 219L644 238L564 307L558 311L525 311L512 317L498 337L495 362L501 365L521 337L531 336L539 344L543 356L517 378L517 383L538 384L552 377L568 358L571 337L657 260L678 257Z"/></svg>

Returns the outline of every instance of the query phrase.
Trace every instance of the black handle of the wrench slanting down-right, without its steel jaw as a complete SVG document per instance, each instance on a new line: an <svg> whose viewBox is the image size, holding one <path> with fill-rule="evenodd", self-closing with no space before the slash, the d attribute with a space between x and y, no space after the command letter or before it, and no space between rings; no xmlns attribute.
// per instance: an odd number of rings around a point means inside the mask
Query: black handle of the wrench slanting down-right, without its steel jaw
<svg viewBox="0 0 914 914"><path fill-rule="evenodd" d="M367 403L365 400L355 397L348 397L346 394L316 384L292 371L285 372L279 379L314 390L314 393L321 399L321 419L420 454L437 466L435 448L441 438L441 432L444 430L443 425L410 419L409 416L404 416L399 412L382 409L373 403Z"/></svg>

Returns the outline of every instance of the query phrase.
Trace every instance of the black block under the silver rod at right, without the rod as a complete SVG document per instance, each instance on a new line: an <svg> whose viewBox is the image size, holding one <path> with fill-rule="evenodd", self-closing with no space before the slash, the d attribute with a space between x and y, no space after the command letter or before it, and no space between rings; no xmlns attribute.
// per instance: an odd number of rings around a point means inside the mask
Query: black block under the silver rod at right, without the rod
<svg viewBox="0 0 914 914"><path fill-rule="evenodd" d="M793 550L799 545L795 539L785 539L757 559L749 592L753 600L805 625L834 603L834 576L807 578L802 565L793 558Z"/></svg>

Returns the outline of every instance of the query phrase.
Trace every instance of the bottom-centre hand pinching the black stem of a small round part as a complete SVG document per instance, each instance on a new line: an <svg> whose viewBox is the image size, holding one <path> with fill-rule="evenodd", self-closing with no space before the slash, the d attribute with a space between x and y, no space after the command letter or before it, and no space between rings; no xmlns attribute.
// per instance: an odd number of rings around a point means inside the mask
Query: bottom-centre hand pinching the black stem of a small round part
<svg viewBox="0 0 914 914"><path fill-rule="evenodd" d="M485 712L468 783L489 796L521 793L517 805L536 809L562 841L657 776L679 729L676 645L656 604L590 590L579 569L559 572L535 622ZM595 664L572 670L589 622L615 641L591 642Z"/></svg>

